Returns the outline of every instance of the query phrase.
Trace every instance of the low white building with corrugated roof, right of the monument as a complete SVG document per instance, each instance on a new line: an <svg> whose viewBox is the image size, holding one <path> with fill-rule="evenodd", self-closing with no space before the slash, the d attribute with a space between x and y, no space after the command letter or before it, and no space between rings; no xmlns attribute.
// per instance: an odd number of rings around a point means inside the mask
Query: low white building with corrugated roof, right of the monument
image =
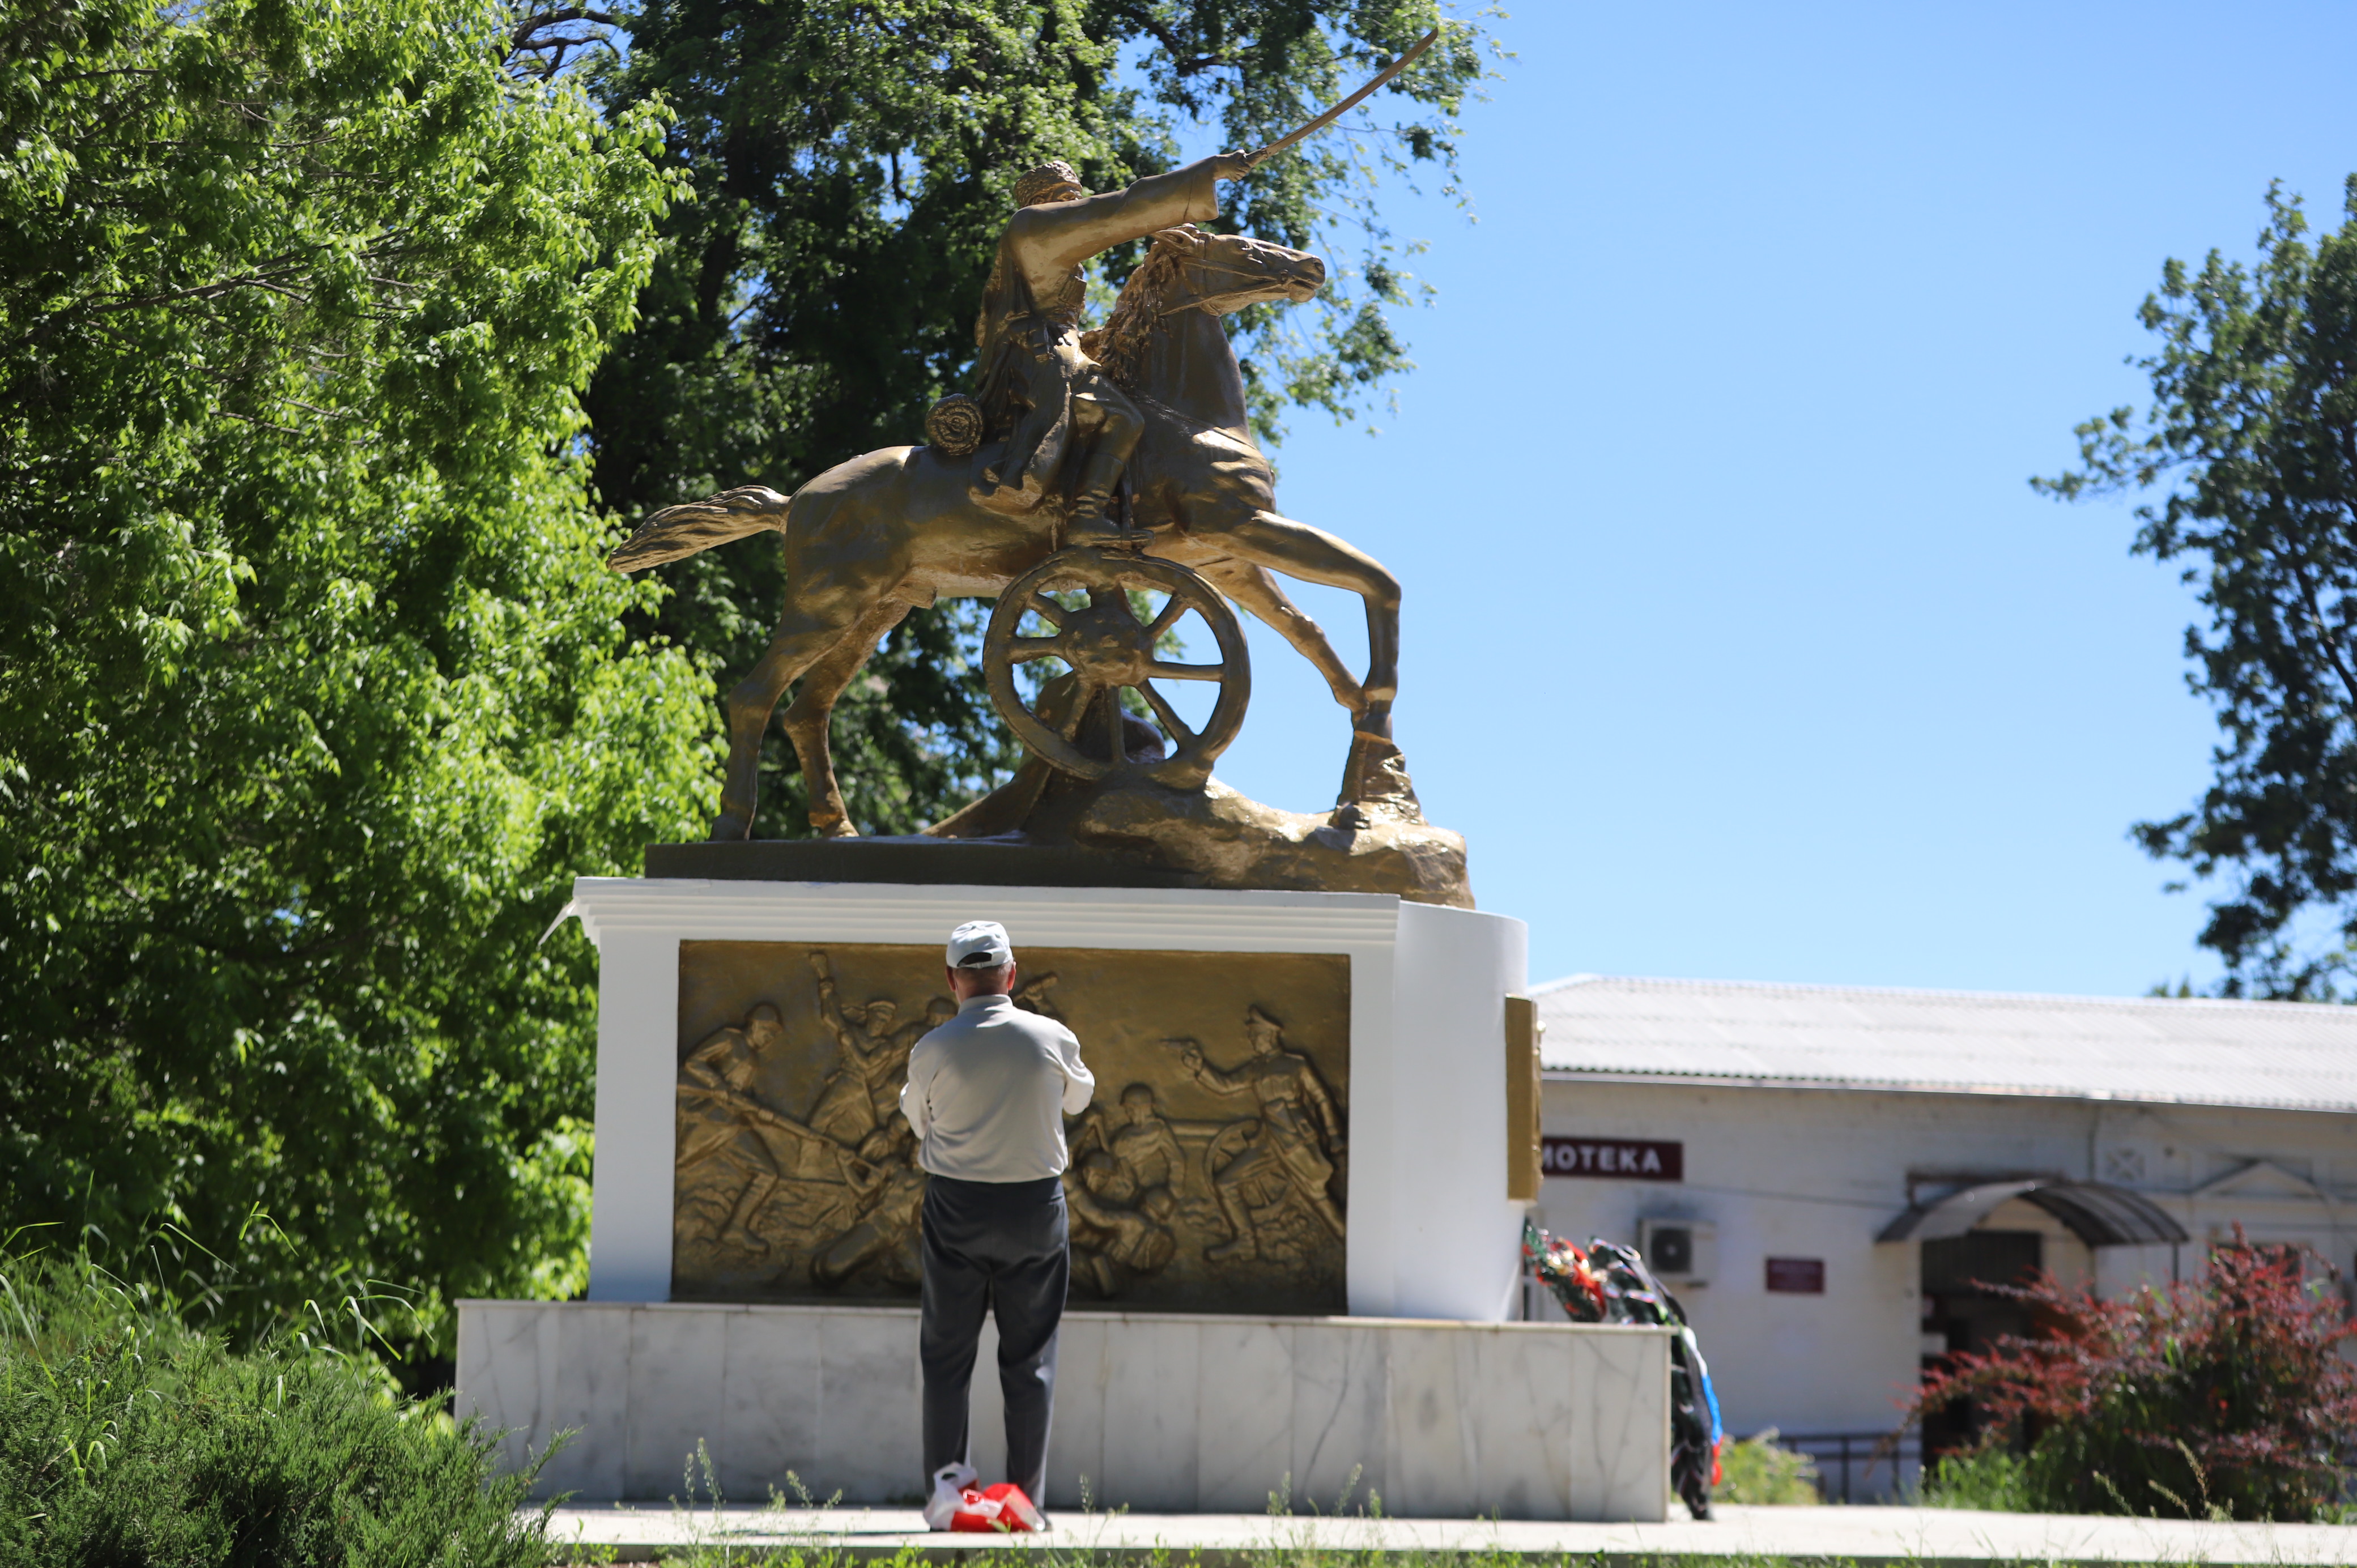
<svg viewBox="0 0 2357 1568"><path fill-rule="evenodd" d="M2352 1266L2357 1007L1603 976L1537 1002L1539 1224L1645 1247L1732 1434L1890 1431L1928 1356L2025 1327L1970 1280L2194 1278L2237 1221ZM1864 1469L1855 1495L1890 1485Z"/></svg>

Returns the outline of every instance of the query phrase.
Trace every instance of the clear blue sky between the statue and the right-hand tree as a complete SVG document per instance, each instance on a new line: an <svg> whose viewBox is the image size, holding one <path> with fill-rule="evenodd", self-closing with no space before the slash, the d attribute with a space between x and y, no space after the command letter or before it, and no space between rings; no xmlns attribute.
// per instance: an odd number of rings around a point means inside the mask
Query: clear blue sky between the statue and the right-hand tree
<svg viewBox="0 0 2357 1568"><path fill-rule="evenodd" d="M2029 474L2143 380L2161 259L2338 222L2357 5L1534 5L1466 113L1381 436L1280 505L1407 585L1398 731L1572 971L2138 993L2216 974L2128 823L2213 724L2126 505ZM1362 658L1355 601L1303 604ZM1273 637L1221 776L1332 799Z"/></svg>

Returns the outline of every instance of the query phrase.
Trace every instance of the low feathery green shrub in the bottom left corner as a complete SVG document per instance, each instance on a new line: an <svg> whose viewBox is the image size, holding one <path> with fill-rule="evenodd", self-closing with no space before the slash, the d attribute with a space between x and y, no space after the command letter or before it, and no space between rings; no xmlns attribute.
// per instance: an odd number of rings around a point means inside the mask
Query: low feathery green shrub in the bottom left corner
<svg viewBox="0 0 2357 1568"><path fill-rule="evenodd" d="M368 1356L231 1353L85 1259L0 1259L0 1561L537 1568L528 1488Z"/></svg>

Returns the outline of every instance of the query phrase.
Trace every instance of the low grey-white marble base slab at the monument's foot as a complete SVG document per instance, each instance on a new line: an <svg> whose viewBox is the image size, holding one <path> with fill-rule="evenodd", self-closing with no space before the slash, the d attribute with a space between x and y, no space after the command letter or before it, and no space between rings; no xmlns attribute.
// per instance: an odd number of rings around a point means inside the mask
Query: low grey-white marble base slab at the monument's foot
<svg viewBox="0 0 2357 1568"><path fill-rule="evenodd" d="M1072 1311L1051 1509L1669 1516L1669 1330L1424 1318ZM917 1313L903 1306L460 1302L457 1412L521 1464L577 1436L544 1493L686 1497L698 1441L724 1495L917 1497ZM1004 1469L995 1344L976 1464Z"/></svg>

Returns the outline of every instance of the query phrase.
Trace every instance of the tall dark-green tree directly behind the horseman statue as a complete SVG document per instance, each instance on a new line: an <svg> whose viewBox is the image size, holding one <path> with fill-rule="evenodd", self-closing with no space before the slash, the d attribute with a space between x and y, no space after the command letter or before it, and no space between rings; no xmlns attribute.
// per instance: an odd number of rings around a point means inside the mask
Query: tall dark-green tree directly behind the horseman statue
<svg viewBox="0 0 2357 1568"><path fill-rule="evenodd" d="M1174 167L1178 134L1261 146L1438 21L1433 0L646 0L599 92L667 101L665 158L691 200L639 325L589 391L596 486L641 516L759 481L792 490L877 446L922 441L964 389L973 314L1016 174L1068 158L1094 189ZM537 24L528 24L533 28ZM554 35L542 31L540 35ZM1355 116L1226 186L1223 222L1285 245L1348 245L1322 302L1230 318L1266 441L1287 406L1353 417L1407 368L1388 311L1417 297L1374 205L1386 170L1454 174L1480 78L1454 24L1398 83L1412 118ZM1346 262L1351 257L1334 257ZM1101 281L1136 262L1115 252ZM742 670L783 594L768 535L662 568L655 625ZM853 821L905 832L1011 762L973 660L973 604L910 615L834 714ZM771 745L757 837L808 830L790 747Z"/></svg>

